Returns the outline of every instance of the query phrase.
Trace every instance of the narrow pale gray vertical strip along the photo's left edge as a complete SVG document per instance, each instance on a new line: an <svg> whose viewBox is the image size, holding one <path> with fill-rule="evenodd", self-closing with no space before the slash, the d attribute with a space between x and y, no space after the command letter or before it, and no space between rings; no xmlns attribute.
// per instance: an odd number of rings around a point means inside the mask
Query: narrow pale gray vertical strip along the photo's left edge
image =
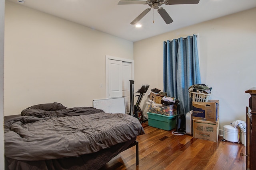
<svg viewBox="0 0 256 170"><path fill-rule="evenodd" d="M4 169L4 0L0 1L0 169Z"/></svg>

